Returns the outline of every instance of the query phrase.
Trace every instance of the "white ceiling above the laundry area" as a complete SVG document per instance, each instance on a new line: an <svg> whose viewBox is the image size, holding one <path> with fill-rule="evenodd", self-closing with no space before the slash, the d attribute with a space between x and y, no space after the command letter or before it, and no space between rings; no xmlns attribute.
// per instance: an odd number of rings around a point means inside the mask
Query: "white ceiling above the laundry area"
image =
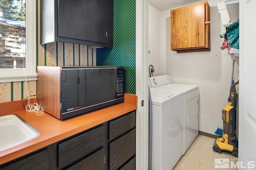
<svg viewBox="0 0 256 170"><path fill-rule="evenodd" d="M148 3L159 11L165 11L200 1L202 0L148 0ZM216 6L222 1L223 0L208 0L208 4L210 6Z"/></svg>

